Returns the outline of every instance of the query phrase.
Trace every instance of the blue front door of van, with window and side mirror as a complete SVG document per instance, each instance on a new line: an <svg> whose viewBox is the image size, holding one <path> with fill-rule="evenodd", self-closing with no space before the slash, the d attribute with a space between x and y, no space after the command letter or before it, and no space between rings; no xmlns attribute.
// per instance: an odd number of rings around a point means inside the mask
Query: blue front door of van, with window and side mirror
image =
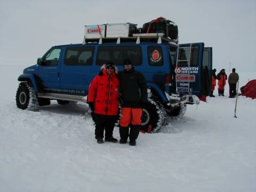
<svg viewBox="0 0 256 192"><path fill-rule="evenodd" d="M47 92L55 92L60 89L60 54L61 47L53 47L45 53L42 65L39 65L39 77L42 88Z"/></svg>

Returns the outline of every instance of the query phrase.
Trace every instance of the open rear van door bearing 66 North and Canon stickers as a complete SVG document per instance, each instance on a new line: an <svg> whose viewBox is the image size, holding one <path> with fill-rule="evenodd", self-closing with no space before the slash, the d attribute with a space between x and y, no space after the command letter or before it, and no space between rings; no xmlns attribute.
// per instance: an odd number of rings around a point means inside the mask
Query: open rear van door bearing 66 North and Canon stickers
<svg viewBox="0 0 256 192"><path fill-rule="evenodd" d="M201 95L204 43L180 44L175 67L176 92Z"/></svg>

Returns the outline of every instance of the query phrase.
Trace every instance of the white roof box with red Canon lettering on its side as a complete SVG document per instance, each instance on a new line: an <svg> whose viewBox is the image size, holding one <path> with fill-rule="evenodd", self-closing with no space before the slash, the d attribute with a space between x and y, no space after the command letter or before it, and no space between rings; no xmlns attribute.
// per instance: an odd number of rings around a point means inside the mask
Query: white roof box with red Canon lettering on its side
<svg viewBox="0 0 256 192"><path fill-rule="evenodd" d="M88 25L85 26L85 38L101 38L106 37L106 25Z"/></svg>

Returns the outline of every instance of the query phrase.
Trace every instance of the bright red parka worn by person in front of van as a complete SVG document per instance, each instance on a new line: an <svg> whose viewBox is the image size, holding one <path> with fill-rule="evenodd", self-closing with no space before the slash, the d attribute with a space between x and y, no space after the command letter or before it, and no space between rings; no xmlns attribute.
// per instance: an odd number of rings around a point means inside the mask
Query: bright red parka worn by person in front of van
<svg viewBox="0 0 256 192"><path fill-rule="evenodd" d="M116 73L108 75L102 69L102 75L97 75L89 86L87 102L94 102L94 113L101 115L117 115L119 80Z"/></svg>

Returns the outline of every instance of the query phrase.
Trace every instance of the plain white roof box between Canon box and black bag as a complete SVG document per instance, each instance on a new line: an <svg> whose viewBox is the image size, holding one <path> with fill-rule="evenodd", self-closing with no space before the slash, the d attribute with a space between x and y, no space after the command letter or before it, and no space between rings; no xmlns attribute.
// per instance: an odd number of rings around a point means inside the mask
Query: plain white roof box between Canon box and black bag
<svg viewBox="0 0 256 192"><path fill-rule="evenodd" d="M137 32L137 24L109 23L106 24L106 37L129 37Z"/></svg>

